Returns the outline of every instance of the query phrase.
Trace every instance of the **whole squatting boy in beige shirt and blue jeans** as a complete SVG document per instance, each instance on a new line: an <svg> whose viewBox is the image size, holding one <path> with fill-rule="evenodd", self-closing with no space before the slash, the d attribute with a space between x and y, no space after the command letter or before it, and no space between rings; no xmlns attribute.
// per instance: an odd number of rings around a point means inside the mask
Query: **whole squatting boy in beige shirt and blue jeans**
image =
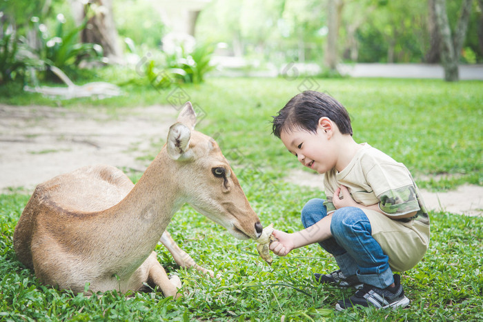
<svg viewBox="0 0 483 322"><path fill-rule="evenodd" d="M273 134L304 166L324 174L326 200L306 203L305 230L274 230L279 241L270 250L285 256L319 243L333 254L339 270L315 279L339 287L363 285L338 301L337 310L406 307L400 275L393 272L413 268L429 243L428 213L407 168L367 143L356 143L347 110L319 92L290 99L273 119Z"/></svg>

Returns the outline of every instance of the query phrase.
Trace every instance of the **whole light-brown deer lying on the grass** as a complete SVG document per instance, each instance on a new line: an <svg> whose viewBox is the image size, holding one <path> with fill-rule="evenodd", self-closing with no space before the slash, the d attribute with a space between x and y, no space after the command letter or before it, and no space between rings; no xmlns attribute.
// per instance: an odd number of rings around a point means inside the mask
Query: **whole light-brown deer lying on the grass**
<svg viewBox="0 0 483 322"><path fill-rule="evenodd" d="M191 103L171 125L166 145L134 185L117 168L88 166L37 186L14 231L19 261L41 283L83 292L127 292L157 285L179 296L153 250L167 246L181 266L199 267L165 232L181 205L257 239L263 227L217 143L194 130Z"/></svg>

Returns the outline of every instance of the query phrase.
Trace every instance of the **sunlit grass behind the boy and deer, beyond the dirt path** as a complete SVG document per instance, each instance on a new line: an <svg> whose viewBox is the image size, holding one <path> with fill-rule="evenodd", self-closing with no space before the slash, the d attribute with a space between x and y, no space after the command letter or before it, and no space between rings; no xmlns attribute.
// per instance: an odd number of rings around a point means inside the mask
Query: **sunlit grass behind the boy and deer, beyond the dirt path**
<svg viewBox="0 0 483 322"><path fill-rule="evenodd" d="M77 83L100 79L127 84L122 88L124 95L60 101L23 93L10 85L0 88L0 103L101 107L115 117L134 106L170 106L189 99L205 115L197 129L215 137L225 152L237 149L257 167L279 177L299 165L270 135L271 116L299 90L316 88L346 106L356 141L368 142L404 163L422 187L447 190L462 183L483 184L481 81L216 78L158 91L148 84L137 85L141 77L134 70L106 68ZM431 180L435 174L446 177L441 182Z"/></svg>

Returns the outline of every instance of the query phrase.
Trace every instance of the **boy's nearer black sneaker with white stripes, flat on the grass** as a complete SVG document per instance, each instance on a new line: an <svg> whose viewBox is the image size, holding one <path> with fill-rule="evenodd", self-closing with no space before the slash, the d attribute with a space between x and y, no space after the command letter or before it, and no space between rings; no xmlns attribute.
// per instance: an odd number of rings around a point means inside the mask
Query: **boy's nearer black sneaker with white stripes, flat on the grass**
<svg viewBox="0 0 483 322"><path fill-rule="evenodd" d="M409 299L404 296L404 290L401 285L401 277L394 274L393 288L376 288L373 285L364 284L362 290L355 292L353 296L344 301L339 301L335 305L335 310L342 311L347 308L355 308L355 305L365 307L375 306L375 308L406 308Z"/></svg>

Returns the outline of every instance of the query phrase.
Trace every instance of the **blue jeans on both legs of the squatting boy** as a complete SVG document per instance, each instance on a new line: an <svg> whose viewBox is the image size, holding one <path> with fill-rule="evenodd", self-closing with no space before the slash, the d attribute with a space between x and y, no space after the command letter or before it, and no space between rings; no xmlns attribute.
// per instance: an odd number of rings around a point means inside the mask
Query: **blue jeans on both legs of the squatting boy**
<svg viewBox="0 0 483 322"><path fill-rule="evenodd" d="M327 216L323 199L311 199L302 209L304 228ZM371 233L371 223L366 214L355 207L335 210L331 222L332 236L319 245L334 255L344 275L356 275L359 281L377 288L387 288L394 282L388 256Z"/></svg>

